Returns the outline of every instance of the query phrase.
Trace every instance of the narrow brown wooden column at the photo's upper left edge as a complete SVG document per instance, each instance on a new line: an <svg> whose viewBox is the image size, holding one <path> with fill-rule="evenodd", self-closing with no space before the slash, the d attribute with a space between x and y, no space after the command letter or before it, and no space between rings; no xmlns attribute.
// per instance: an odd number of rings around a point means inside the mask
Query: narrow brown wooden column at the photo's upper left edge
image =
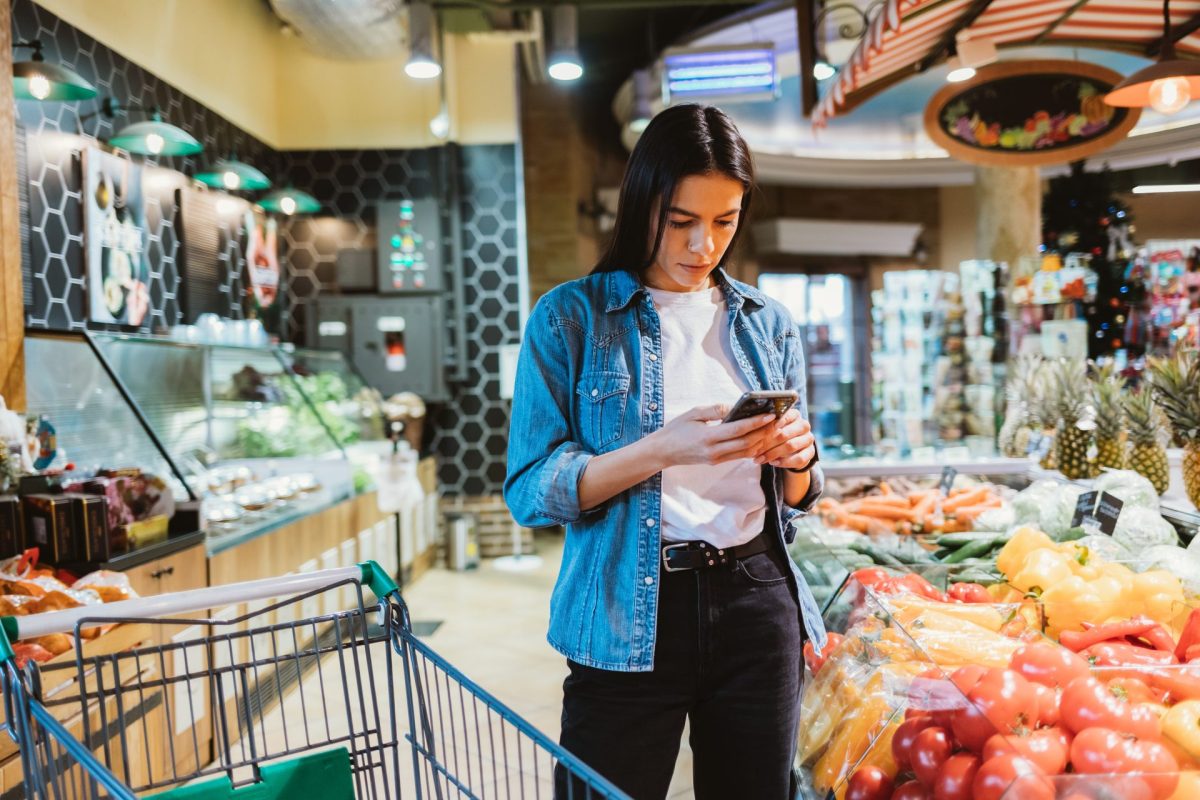
<svg viewBox="0 0 1200 800"><path fill-rule="evenodd" d="M12 96L12 4L0 1L0 395L25 410L25 303L20 285L17 108Z"/></svg>

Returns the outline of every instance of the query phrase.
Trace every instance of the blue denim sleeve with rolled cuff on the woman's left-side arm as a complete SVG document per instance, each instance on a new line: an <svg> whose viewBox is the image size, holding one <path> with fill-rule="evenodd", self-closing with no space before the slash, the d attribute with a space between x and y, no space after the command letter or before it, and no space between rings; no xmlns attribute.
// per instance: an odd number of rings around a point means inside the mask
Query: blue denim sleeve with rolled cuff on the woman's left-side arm
<svg viewBox="0 0 1200 800"><path fill-rule="evenodd" d="M509 425L504 500L526 528L575 522L580 479L594 457L571 439L570 354L545 299L526 324Z"/></svg>

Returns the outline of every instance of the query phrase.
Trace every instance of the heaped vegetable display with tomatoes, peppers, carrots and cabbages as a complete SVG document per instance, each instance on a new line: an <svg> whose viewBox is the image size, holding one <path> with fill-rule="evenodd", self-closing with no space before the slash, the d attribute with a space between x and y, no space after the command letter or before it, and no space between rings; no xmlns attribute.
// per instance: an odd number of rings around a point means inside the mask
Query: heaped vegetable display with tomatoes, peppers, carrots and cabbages
<svg viewBox="0 0 1200 800"><path fill-rule="evenodd" d="M1082 486L959 482L860 485L802 527L835 631L805 646L803 794L1200 798L1200 540L1133 470L1090 487L1123 504L1111 535L1072 524Z"/></svg>

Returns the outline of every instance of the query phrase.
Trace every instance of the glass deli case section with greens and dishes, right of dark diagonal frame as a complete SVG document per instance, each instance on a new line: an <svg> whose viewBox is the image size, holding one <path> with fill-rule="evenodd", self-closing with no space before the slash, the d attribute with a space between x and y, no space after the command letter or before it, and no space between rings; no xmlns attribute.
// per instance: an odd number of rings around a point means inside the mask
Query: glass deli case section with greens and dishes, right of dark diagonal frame
<svg viewBox="0 0 1200 800"><path fill-rule="evenodd" d="M330 425L344 421L312 402L278 349L91 337L204 498L210 551L355 494L354 465Z"/></svg>

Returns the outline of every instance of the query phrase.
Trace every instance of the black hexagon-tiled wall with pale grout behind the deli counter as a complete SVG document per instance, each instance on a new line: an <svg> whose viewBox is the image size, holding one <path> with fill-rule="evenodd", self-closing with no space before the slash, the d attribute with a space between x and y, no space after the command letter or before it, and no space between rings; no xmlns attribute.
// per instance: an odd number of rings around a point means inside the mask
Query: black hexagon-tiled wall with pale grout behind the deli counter
<svg viewBox="0 0 1200 800"><path fill-rule="evenodd" d="M8 1L8 0L0 0ZM107 139L131 120L86 116L104 96L158 106L164 118L205 145L196 157L144 158L152 327L182 320L182 249L176 236L174 193L205 160L229 150L268 172L276 185L290 182L324 205L314 217L281 225L284 301L290 338L304 336L305 314L323 291L337 291L337 251L374 246L374 204L438 193L443 200L443 246L452 253L450 210L462 218L466 339L448 330L448 361L466 348L466 379L451 385L454 399L431 409L433 450L442 458L448 494L498 494L505 470L508 404L499 397L499 349L518 338L516 149L470 145L428 150L277 152L187 95L72 28L32 0L12 1L14 40L40 38L47 60L90 80L100 97L84 103L18 102L29 170L23 201L29 212L28 275L32 282L26 323L34 327L79 330L86 320L80 172L76 154ZM142 160L142 157L136 157ZM454 160L454 163L448 163ZM448 175L457 178L450 185ZM242 315L242 251L232 228L221 231L227 314ZM448 269L452 259L445 258ZM448 282L448 285L452 283ZM446 299L446 319L455 308Z"/></svg>

